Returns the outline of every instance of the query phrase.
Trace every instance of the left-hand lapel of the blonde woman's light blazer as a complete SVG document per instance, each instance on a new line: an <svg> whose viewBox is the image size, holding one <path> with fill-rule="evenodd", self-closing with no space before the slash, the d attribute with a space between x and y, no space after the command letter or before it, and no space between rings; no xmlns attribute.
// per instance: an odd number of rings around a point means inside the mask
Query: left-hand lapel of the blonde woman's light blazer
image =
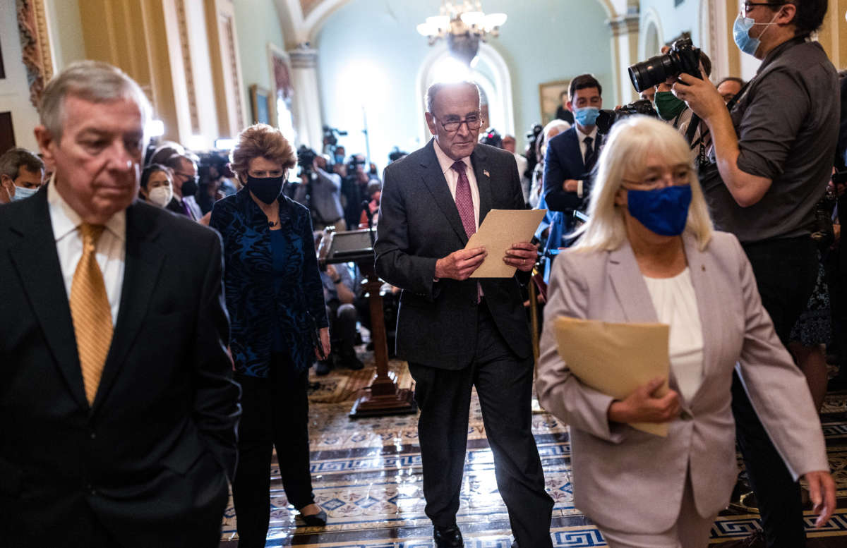
<svg viewBox="0 0 847 548"><path fill-rule="evenodd" d="M623 245L609 253L609 277L612 279L615 297L623 309L623 315L627 322L659 322L659 316L656 315L656 307L653 306L650 291L641 275L633 249L627 241L624 241ZM679 392L679 385L676 376L673 375L673 369L669 371L668 385L672 390Z"/></svg>

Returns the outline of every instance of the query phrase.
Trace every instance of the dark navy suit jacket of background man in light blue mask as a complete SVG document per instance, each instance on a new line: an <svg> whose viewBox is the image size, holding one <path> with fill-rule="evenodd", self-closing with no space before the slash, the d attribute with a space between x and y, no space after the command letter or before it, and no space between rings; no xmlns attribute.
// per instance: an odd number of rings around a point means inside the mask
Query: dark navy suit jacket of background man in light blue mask
<svg viewBox="0 0 847 548"><path fill-rule="evenodd" d="M600 140L600 134L597 134L597 139ZM562 189L562 183L567 179L584 181L581 198L576 192ZM567 232L573 227L573 211L584 211L588 206L590 189L589 173L585 170L582 151L579 149L579 134L574 125L547 143L544 160L544 197L547 207L565 213Z"/></svg>

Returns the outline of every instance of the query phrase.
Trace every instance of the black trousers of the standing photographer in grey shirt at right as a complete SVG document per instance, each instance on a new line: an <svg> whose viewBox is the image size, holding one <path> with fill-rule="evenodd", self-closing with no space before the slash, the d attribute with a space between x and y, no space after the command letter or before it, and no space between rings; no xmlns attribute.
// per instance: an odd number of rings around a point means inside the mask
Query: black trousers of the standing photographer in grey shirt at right
<svg viewBox="0 0 847 548"><path fill-rule="evenodd" d="M779 339L787 344L791 328L815 288L815 245L806 236L756 242L744 249L756 275L761 303ZM737 374L733 378L733 414L736 439L759 503L768 548L802 548L805 529L800 485L791 479Z"/></svg>

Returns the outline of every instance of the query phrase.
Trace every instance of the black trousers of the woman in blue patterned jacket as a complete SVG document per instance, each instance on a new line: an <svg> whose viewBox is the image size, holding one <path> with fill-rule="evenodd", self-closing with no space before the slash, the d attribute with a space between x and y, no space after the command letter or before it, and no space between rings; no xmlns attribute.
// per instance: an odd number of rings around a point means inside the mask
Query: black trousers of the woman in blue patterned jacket
<svg viewBox="0 0 847 548"><path fill-rule="evenodd" d="M308 370L295 373L274 354L268 378L235 375L241 383L238 468L232 483L239 548L263 547L270 522L274 447L285 496L298 510L314 502L309 469Z"/></svg>

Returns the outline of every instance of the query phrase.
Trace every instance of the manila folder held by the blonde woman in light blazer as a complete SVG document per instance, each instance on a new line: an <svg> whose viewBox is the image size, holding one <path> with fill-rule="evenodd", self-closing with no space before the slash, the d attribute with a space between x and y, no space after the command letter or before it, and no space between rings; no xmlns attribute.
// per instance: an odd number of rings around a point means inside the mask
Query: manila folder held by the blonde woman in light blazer
<svg viewBox="0 0 847 548"><path fill-rule="evenodd" d="M667 324L609 323L556 318L556 344L568 369L580 381L623 400L656 377L666 379L656 392L667 393L670 358ZM635 429L667 436L667 423L632 423Z"/></svg>

